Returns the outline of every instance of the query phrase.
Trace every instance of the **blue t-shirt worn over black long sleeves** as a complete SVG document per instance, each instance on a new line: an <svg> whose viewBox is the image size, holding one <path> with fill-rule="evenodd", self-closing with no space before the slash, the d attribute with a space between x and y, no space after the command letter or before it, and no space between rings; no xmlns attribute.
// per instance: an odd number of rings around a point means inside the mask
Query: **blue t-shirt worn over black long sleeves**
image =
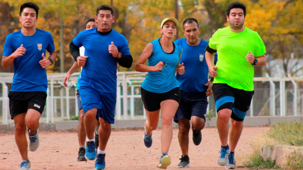
<svg viewBox="0 0 303 170"><path fill-rule="evenodd" d="M97 28L81 31L73 43L84 46L88 56L78 80L81 87L93 88L99 92L117 92L117 60L109 53L109 44L113 41L122 55L130 55L125 36L112 29L107 35L101 35Z"/></svg>

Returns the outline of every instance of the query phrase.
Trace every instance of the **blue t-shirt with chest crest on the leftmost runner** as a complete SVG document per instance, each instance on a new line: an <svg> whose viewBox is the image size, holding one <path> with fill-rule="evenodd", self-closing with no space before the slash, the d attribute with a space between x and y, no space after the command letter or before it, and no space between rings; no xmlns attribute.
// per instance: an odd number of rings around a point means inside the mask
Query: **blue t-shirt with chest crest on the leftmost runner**
<svg viewBox="0 0 303 170"><path fill-rule="evenodd" d="M11 91L31 92L47 90L46 69L39 61L42 53L55 51L54 39L51 33L36 28L36 33L25 36L21 30L9 34L5 40L3 55L9 56L23 44L25 54L14 60L14 78Z"/></svg>

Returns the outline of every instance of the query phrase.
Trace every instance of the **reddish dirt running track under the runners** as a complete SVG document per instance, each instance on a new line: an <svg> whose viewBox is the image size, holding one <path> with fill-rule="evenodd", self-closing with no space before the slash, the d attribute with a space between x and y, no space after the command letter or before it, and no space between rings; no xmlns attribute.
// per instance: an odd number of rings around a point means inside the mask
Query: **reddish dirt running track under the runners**
<svg viewBox="0 0 303 170"><path fill-rule="evenodd" d="M265 133L269 127L244 127L235 151L237 165L241 158L252 152L252 137ZM15 143L14 132L0 132L0 169L18 169L21 157ZM143 129L113 130L106 149L106 169L159 169L161 155L161 129L153 132L153 146L145 148L142 141ZM178 142L178 129L174 129L169 155L172 164L167 169L179 169L177 164L181 157ZM220 142L216 128L202 130L203 139L199 146L192 143L191 131L189 141L190 167L188 170L212 169L223 170L224 166L216 163ZM29 151L32 169L93 169L94 161L77 162L78 138L76 130L40 131L40 146L35 152ZM237 169L245 169L238 167Z"/></svg>

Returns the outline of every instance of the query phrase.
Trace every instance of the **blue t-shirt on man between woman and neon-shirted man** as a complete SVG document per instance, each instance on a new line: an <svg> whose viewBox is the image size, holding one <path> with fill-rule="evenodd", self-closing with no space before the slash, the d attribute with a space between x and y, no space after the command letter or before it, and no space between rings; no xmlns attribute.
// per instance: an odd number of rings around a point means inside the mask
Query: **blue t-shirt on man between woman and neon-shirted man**
<svg viewBox="0 0 303 170"><path fill-rule="evenodd" d="M176 44L183 49L180 64L184 63L185 72L183 75L177 73L177 80L180 84L180 90L185 92L202 92L207 90L208 66L205 60L205 48L208 41L200 39L200 43L191 46L186 42L186 38L177 39ZM217 54L215 55L215 63Z"/></svg>

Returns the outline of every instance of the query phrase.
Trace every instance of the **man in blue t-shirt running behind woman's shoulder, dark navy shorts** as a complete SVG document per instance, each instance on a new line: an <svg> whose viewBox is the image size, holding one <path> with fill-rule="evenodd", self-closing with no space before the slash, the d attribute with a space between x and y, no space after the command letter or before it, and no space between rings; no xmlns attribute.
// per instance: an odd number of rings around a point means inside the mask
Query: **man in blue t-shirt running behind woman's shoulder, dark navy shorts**
<svg viewBox="0 0 303 170"><path fill-rule="evenodd" d="M208 80L208 67L204 59L204 49L208 41L199 38L201 28L194 18L183 22L185 38L177 39L176 44L183 49L180 63L184 63L184 75L177 74L181 98L174 121L179 124L178 139L182 151L178 167L189 167L188 132L192 125L192 140L195 145L201 142L201 129L205 126L207 97L212 95L212 80Z"/></svg>

